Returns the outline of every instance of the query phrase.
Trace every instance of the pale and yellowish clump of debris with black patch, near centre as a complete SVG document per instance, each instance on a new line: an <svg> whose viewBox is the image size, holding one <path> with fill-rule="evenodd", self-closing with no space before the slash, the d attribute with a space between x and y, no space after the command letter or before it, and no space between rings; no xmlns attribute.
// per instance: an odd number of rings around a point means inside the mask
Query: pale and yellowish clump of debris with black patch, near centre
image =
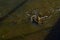
<svg viewBox="0 0 60 40"><path fill-rule="evenodd" d="M32 12L27 11L26 15L30 17L31 23L35 23L35 24L43 24L44 23L43 21L46 18L48 18L48 16L41 16L38 10L32 10Z"/></svg>

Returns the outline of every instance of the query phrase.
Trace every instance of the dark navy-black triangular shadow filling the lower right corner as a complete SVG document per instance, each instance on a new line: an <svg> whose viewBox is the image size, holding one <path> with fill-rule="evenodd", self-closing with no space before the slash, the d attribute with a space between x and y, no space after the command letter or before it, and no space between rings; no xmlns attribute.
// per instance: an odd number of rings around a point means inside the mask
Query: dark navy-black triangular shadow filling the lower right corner
<svg viewBox="0 0 60 40"><path fill-rule="evenodd" d="M60 18L45 40L60 40Z"/></svg>

